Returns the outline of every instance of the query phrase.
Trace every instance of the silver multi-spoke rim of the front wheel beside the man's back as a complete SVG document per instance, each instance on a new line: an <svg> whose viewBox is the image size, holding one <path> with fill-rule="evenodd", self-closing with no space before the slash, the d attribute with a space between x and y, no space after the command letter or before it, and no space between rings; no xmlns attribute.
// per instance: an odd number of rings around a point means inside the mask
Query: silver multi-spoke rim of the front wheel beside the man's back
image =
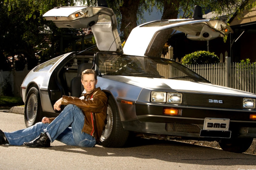
<svg viewBox="0 0 256 170"><path fill-rule="evenodd" d="M107 119L106 119L106 124L105 124L105 129L102 132L101 135L101 141L108 139L108 137L111 134L113 128L113 111L111 107L108 105L107 109Z"/></svg>

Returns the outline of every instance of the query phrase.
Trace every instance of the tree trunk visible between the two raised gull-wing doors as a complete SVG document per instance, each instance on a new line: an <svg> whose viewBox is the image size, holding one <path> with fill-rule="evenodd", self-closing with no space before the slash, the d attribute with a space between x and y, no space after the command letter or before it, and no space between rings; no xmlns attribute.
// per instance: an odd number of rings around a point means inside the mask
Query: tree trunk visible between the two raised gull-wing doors
<svg viewBox="0 0 256 170"><path fill-rule="evenodd" d="M137 26L137 11L139 4L140 1L138 0L124 0L123 6L119 7L122 14L120 30L124 32L124 40L127 40L132 29Z"/></svg>

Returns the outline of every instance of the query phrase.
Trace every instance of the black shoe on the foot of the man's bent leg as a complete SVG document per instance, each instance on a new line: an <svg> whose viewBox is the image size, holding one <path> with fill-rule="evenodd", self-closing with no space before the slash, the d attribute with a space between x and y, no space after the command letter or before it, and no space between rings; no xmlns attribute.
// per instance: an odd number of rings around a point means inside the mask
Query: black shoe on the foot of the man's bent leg
<svg viewBox="0 0 256 170"><path fill-rule="evenodd" d="M47 148L50 147L50 139L46 133L41 133L41 135L35 140L32 140L31 142L24 142L24 144L32 148Z"/></svg>

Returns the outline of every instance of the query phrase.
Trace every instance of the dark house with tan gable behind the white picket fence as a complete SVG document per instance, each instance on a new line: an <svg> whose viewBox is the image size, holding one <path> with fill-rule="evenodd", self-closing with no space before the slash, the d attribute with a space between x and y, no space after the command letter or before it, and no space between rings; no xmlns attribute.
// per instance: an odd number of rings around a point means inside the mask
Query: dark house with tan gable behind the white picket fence
<svg viewBox="0 0 256 170"><path fill-rule="evenodd" d="M191 41L184 34L176 34L168 40L168 44L173 46L174 58L180 61L186 54L203 50L214 52L217 56L227 51L228 56L231 56L231 62L240 62L248 58L251 62L256 61L256 7L231 18L225 14L218 16L214 12L203 15L203 18L218 18L227 21L234 33L230 34L226 41L223 38L211 41Z"/></svg>

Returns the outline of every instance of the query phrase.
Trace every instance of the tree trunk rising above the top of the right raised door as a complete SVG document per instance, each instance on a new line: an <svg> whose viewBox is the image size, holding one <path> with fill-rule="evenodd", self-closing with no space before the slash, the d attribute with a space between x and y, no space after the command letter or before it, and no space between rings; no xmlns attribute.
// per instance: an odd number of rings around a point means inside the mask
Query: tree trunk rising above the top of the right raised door
<svg viewBox="0 0 256 170"><path fill-rule="evenodd" d="M165 0L165 6L161 20L177 19L180 4L179 2L179 0Z"/></svg>

